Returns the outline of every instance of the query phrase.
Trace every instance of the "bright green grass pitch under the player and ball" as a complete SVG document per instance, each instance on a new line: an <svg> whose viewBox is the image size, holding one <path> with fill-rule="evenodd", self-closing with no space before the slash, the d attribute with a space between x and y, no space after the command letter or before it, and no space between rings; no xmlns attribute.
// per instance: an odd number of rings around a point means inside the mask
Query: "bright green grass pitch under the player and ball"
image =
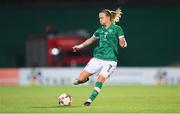
<svg viewBox="0 0 180 114"><path fill-rule="evenodd" d="M93 86L0 87L0 113L180 113L180 86L104 86L90 107L83 107ZM72 95L72 106L57 103Z"/></svg>

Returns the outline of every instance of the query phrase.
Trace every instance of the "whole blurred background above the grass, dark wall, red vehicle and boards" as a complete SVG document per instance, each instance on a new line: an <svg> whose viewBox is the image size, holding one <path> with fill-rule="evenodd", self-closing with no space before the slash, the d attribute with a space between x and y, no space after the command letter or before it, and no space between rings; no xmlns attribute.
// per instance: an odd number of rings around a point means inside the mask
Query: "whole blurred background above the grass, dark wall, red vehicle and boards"
<svg viewBox="0 0 180 114"><path fill-rule="evenodd" d="M1 0L1 90L71 85L96 44L80 53L71 47L97 29L99 11L117 7L128 48L119 49L118 68L106 84L180 85L179 0Z"/></svg>

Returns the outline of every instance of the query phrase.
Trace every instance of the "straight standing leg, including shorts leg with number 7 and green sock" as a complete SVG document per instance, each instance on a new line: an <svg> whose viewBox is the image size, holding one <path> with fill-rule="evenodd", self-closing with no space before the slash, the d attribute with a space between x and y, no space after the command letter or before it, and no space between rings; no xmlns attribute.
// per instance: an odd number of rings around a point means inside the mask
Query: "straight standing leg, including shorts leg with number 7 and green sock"
<svg viewBox="0 0 180 114"><path fill-rule="evenodd" d="M99 73L99 77L95 84L94 90L92 91L92 94L89 97L89 99L85 101L84 106L89 106L95 100L95 98L98 96L99 92L101 91L103 83L107 80L107 78L110 77L110 75L114 72L117 66L117 62L114 61L105 62L103 64L104 64L103 68Z"/></svg>

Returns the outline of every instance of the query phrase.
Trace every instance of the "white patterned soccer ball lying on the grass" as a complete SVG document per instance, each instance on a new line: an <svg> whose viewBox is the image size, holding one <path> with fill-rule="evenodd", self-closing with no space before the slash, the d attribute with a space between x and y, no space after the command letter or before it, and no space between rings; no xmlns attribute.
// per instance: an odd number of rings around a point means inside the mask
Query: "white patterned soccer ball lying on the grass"
<svg viewBox="0 0 180 114"><path fill-rule="evenodd" d="M58 103L61 106L70 106L72 103L72 96L67 93L63 93L58 97Z"/></svg>

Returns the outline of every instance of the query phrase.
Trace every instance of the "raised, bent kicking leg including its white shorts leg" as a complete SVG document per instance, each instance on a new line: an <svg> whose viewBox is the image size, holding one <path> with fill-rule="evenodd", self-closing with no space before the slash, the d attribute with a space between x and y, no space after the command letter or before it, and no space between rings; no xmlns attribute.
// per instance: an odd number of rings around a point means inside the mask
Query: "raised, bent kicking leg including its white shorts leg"
<svg viewBox="0 0 180 114"><path fill-rule="evenodd" d="M95 58L92 58L86 65L84 70L80 73L79 77L74 81L74 85L85 83L89 80L89 76L98 72L101 68L101 64Z"/></svg>

